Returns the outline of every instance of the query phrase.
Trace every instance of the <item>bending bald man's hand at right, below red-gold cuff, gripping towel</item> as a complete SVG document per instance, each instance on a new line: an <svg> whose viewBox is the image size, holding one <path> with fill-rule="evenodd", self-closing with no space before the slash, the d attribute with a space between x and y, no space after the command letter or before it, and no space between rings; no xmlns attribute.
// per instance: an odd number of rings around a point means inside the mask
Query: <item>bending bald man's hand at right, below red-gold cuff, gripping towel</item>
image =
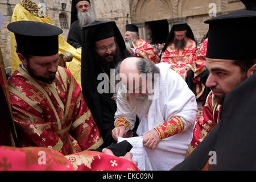
<svg viewBox="0 0 256 182"><path fill-rule="evenodd" d="M143 144L147 148L155 149L155 147L158 146L159 141L159 135L154 129L143 135Z"/></svg>

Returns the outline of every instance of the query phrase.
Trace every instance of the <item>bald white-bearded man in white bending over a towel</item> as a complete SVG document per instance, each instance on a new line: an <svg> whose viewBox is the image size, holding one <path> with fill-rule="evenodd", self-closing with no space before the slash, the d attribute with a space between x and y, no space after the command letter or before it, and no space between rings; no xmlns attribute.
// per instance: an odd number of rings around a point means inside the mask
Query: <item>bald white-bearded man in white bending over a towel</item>
<svg viewBox="0 0 256 182"><path fill-rule="evenodd" d="M167 63L154 65L129 57L119 65L118 73L121 86L113 138L133 145L133 160L142 171L166 171L183 162L195 126L195 94ZM136 116L139 137L123 138L133 129Z"/></svg>

